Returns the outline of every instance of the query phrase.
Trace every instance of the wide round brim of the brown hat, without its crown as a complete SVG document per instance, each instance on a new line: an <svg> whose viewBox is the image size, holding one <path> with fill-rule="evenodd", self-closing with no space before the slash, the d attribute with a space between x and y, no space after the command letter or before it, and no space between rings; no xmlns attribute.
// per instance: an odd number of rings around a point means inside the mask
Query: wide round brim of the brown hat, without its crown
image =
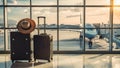
<svg viewBox="0 0 120 68"><path fill-rule="evenodd" d="M30 23L30 27L28 29L23 29L23 27L20 25L20 23L22 21L29 22ZM17 24L18 31L21 32L21 33L23 33L23 34L29 34L29 33L31 33L35 29L35 27L36 27L35 21L32 20L32 19L29 19L29 18L22 19Z"/></svg>

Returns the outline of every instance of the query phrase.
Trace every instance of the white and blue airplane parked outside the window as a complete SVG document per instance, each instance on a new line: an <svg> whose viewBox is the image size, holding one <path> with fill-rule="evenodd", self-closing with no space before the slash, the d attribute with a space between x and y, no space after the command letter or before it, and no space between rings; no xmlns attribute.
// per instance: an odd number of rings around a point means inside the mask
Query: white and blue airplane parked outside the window
<svg viewBox="0 0 120 68"><path fill-rule="evenodd" d="M80 21L81 21L81 14L79 15L80 16ZM71 15L71 16L67 16L67 18L70 18L70 17L75 17L75 15ZM80 28L83 28L83 24L80 22ZM96 27L93 25L93 24L90 24L90 23L85 23L85 34L84 34L84 30L81 29L81 30L70 30L70 31L75 31L75 32L80 32L80 42L83 41L83 35L89 39L88 41L88 45L89 45L89 49L92 48L92 39L96 37L96 35L98 34L97 30L96 30Z"/></svg>

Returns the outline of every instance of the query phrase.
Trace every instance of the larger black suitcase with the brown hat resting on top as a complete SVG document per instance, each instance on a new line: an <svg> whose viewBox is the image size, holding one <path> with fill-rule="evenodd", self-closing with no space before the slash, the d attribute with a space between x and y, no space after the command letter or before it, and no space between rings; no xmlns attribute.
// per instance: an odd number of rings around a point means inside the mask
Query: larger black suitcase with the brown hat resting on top
<svg viewBox="0 0 120 68"><path fill-rule="evenodd" d="M20 32L10 33L11 60L31 61L30 34Z"/></svg>

